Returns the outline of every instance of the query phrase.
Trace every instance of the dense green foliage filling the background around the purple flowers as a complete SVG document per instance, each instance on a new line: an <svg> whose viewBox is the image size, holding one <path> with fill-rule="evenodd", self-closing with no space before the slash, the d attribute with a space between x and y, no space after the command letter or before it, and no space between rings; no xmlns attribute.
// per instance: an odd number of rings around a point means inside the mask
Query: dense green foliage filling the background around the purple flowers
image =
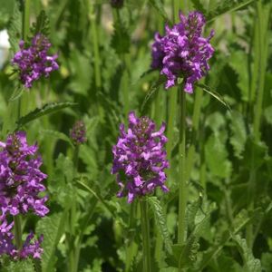
<svg viewBox="0 0 272 272"><path fill-rule="evenodd" d="M60 66L29 91L10 65L23 36L26 2L33 23L28 43L34 34L50 33L50 54L58 53ZM173 132L170 192L148 196L153 271L272 271L272 5L185 1L182 12L206 16L204 36L215 30L215 53L209 73L195 84L203 90L199 118L197 93L186 93L186 149L193 156L180 244L180 112L171 112L175 90L166 92L165 77L150 68L154 34L171 24L172 2L124 0L117 10L108 0L0 0L0 29L7 29L11 45L10 54L0 48L0 141L15 129L37 141L48 175L41 195L49 196L50 209L44 219L24 215L24 236L44 234L42 260L4 256L1 271L143 271L140 207L116 198L111 174L112 146L130 111L157 125L174 120L167 125ZM180 101L181 84L180 78L173 102ZM79 147L69 138L77 120L84 121L87 138Z"/></svg>

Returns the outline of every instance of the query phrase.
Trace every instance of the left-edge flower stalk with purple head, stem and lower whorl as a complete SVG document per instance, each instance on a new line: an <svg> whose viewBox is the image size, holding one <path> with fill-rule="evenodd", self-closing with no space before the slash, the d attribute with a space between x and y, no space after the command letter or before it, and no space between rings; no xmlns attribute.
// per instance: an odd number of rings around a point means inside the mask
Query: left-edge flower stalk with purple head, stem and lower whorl
<svg viewBox="0 0 272 272"><path fill-rule="evenodd" d="M45 190L43 180L47 177L41 170L42 158L37 153L36 144L29 146L26 133L17 131L9 134L5 142L0 142L0 228L5 238L0 239L0 255L9 255L14 259L41 257L43 249L41 236L31 243L34 234L31 232L22 240L21 215L34 212L44 217L49 209L45 206L47 197L40 197ZM9 215L14 222L8 224ZM14 228L14 234L11 233Z"/></svg>

